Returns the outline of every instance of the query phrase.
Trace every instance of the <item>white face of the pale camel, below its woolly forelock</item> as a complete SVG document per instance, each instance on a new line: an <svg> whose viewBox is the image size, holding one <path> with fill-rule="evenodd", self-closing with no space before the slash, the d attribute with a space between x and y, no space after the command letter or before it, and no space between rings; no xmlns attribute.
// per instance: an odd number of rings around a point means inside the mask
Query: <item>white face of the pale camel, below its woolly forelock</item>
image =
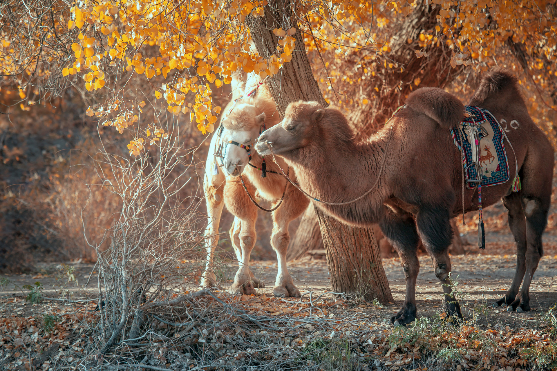
<svg viewBox="0 0 557 371"><path fill-rule="evenodd" d="M244 146L253 145L259 135L258 129L250 131L229 130L224 128L221 134L221 141L223 145L222 156L224 156L224 166L222 170L226 176L238 176L242 173L244 167L250 161L248 151L245 148L229 143L229 141L236 142ZM254 152L255 153L255 152Z"/></svg>

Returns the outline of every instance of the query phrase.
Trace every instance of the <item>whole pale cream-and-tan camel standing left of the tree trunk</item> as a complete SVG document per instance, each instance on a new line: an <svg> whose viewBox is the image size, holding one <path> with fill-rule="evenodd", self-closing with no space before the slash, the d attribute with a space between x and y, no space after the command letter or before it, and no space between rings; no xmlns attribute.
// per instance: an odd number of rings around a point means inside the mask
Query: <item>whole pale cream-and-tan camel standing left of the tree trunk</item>
<svg viewBox="0 0 557 371"><path fill-rule="evenodd" d="M309 200L290 183L287 184L285 177L278 174L279 169L272 161L267 162L267 174L265 177L261 177L261 170L256 167L261 168L262 157L252 151L250 161L248 151L244 147L228 143L228 141L233 141L240 145L252 145L263 125L271 127L280 121L275 103L265 85L258 88L255 95L244 96L244 93L249 93L253 86L257 86L257 83L258 81L253 81L253 76L249 76L247 82L233 81L233 99L224 111L225 115L230 110L231 112L224 116L221 122L220 135L213 135L211 140L204 176L208 214L208 224L205 230L207 261L201 285L210 287L216 284L216 276L212 270L213 255L219 239L218 226L222 209L226 205L227 210L234 215L230 240L240 265L229 291L250 295L256 294L255 287L263 286L263 283L253 276L249 268L251 250L257 240L255 231L257 206L252 203L243 189L238 177L241 173L251 196L255 199L257 194L261 199L270 201L272 207L277 205L285 192L284 201L272 212L271 246L278 259L278 272L273 294L276 296L300 296L300 291L294 285L286 268L286 250L290 241L288 226L290 221L304 212L309 205ZM236 98L240 98L240 100L234 103ZM221 152L222 161L214 156L221 142L224 146ZM223 166L218 166L221 165L221 162ZM255 167L249 166L248 162ZM217 167L215 167L216 165ZM281 162L281 165L284 167L285 163ZM218 169L217 174L214 174L214 169Z"/></svg>

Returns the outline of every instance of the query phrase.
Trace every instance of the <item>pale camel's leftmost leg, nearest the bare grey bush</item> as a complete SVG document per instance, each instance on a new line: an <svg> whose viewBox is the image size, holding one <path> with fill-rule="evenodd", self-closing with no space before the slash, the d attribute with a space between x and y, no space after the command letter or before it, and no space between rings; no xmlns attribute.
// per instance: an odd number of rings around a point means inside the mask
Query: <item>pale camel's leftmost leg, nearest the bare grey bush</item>
<svg viewBox="0 0 557 371"><path fill-rule="evenodd" d="M207 184L209 183L209 184ZM224 189L224 176L218 174L206 179L205 184L205 201L207 204L207 227L204 233L204 243L207 249L207 259L205 270L201 276L201 285L204 287L212 287L217 284L217 278L213 272L213 255L214 249L218 244L218 226L221 221Z"/></svg>

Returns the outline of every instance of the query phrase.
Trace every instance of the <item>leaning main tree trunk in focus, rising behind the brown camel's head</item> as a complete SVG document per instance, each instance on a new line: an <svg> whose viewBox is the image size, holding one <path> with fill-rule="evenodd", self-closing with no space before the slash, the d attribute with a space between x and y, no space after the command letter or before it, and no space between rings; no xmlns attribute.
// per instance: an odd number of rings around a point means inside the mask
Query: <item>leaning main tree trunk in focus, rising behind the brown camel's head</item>
<svg viewBox="0 0 557 371"><path fill-rule="evenodd" d="M281 116L284 116L286 106L292 101L317 101L323 107L328 106L312 74L304 39L297 24L292 23L294 17L291 9L290 4L285 7L282 0L271 0L265 6L262 17L246 19L253 42L263 58L271 57L276 51L278 38L273 34L273 29L296 27L296 50L292 53L292 60L282 66L280 73L267 78L269 90ZM329 263L331 288L335 292L347 294L355 294L361 290L364 298L392 301L373 231L349 227L324 213L317 216L321 234L325 236L323 243ZM341 259L343 256L346 258ZM349 260L354 256L358 256L356 263L351 267L345 265L343 260ZM370 287L372 284L373 288Z"/></svg>

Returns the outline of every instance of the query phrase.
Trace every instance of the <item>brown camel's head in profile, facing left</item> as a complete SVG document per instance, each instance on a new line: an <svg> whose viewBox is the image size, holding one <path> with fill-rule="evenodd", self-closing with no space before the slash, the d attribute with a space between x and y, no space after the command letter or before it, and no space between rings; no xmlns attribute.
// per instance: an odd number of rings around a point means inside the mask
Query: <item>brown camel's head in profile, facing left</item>
<svg viewBox="0 0 557 371"><path fill-rule="evenodd" d="M261 133L255 144L260 155L270 155L267 143L277 155L284 155L310 144L315 135L315 125L323 118L325 110L314 101L293 102L286 107L284 118L277 125Z"/></svg>

